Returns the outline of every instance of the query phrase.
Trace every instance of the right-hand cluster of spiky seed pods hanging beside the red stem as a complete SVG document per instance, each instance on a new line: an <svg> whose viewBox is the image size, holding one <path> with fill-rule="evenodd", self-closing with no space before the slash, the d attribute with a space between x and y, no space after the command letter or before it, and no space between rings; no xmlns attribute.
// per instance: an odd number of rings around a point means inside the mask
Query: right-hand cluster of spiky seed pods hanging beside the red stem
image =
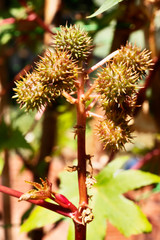
<svg viewBox="0 0 160 240"><path fill-rule="evenodd" d="M99 121L97 134L104 148L118 150L132 139L129 121L136 107L137 84L151 65L149 51L127 44L99 73L97 92L105 119Z"/></svg>

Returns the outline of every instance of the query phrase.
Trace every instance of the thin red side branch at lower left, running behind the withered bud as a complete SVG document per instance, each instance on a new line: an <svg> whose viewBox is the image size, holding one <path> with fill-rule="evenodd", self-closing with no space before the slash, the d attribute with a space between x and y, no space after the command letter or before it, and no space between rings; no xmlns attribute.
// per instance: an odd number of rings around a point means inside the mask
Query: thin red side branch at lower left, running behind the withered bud
<svg viewBox="0 0 160 240"><path fill-rule="evenodd" d="M6 193L12 197L20 198L20 196L23 194L22 192L16 191L14 189L5 187L0 185L0 192ZM72 212L69 211L67 208L63 208L59 205L56 205L54 203L49 203L44 200L27 200L30 203L33 203L35 205L47 208L51 211L54 211L56 213L59 213L65 217L72 217Z"/></svg>

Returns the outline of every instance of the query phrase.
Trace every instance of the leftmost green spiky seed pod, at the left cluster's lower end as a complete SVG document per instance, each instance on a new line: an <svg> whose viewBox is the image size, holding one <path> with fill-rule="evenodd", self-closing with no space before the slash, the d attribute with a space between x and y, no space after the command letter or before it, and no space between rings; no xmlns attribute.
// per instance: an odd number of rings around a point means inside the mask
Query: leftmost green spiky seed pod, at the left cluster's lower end
<svg viewBox="0 0 160 240"><path fill-rule="evenodd" d="M14 98L17 98L21 108L26 108L27 111L30 109L40 110L42 106L51 101L51 94L36 71L26 73L26 76L15 84L16 88L13 90L16 95Z"/></svg>

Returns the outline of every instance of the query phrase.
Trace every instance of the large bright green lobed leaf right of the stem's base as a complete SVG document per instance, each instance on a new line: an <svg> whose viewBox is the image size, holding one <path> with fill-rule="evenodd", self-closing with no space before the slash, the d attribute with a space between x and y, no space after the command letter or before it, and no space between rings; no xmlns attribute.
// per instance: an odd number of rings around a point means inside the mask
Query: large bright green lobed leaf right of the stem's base
<svg viewBox="0 0 160 240"><path fill-rule="evenodd" d="M132 234L151 231L151 225L140 208L122 194L135 188L157 183L160 177L139 170L118 170L124 162L125 159L118 158L99 173L95 185L97 194L94 201L95 212L100 212L101 218L108 219L128 237ZM99 222L99 218L98 215L96 220L95 216L95 221Z"/></svg>

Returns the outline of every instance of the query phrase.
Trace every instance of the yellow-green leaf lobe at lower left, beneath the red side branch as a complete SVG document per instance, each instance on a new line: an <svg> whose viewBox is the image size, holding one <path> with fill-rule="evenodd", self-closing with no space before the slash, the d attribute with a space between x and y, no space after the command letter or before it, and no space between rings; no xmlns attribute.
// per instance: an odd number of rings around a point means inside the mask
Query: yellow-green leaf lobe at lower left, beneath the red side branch
<svg viewBox="0 0 160 240"><path fill-rule="evenodd" d="M29 232L35 228L43 227L47 224L52 224L63 217L55 212L52 212L43 207L35 207L29 218L22 224L21 232Z"/></svg>

